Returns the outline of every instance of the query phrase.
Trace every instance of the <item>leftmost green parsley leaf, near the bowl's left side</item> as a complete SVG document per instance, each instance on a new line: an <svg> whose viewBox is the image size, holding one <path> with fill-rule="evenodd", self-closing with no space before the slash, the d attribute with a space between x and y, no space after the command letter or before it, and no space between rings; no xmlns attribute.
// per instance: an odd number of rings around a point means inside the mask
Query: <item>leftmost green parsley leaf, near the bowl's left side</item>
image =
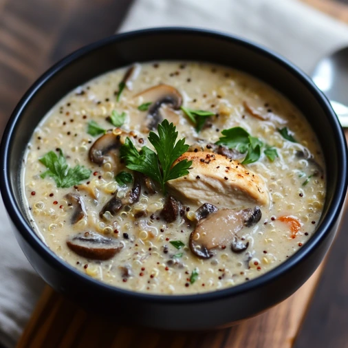
<svg viewBox="0 0 348 348"><path fill-rule="evenodd" d="M46 175L52 177L57 187L71 187L80 184L82 180L87 180L91 171L84 166L75 166L69 168L63 152L59 149L59 156L50 151L46 153L39 161L47 167L47 171L40 176L44 179Z"/></svg>

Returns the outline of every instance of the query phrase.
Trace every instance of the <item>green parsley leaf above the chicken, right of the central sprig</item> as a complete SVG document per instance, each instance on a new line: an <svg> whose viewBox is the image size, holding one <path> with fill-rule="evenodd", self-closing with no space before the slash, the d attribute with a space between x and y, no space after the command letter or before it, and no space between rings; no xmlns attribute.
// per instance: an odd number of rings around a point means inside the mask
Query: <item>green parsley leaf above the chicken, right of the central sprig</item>
<svg viewBox="0 0 348 348"><path fill-rule="evenodd" d="M252 137L245 129L234 127L221 131L223 137L219 138L215 144L225 145L230 149L236 149L240 153L246 153L242 164L257 162L261 156L263 142L258 138Z"/></svg>

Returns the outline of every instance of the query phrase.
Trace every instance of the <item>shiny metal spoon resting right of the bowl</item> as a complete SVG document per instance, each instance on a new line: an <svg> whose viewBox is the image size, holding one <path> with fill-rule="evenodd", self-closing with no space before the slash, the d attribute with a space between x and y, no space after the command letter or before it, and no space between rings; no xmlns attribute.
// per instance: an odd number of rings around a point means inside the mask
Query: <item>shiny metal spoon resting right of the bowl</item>
<svg viewBox="0 0 348 348"><path fill-rule="evenodd" d="M348 127L348 47L323 58L312 79L329 98L342 127Z"/></svg>

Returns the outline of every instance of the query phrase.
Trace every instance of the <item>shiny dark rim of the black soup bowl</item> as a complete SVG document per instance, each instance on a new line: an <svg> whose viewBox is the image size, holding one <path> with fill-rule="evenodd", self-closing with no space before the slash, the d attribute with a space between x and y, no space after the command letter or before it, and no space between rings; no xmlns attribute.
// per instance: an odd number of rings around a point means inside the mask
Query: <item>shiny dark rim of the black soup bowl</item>
<svg viewBox="0 0 348 348"><path fill-rule="evenodd" d="M8 156L8 151L12 147L12 132L17 126L17 120L21 118L22 111L28 102L34 97L36 91L41 88L42 85L46 83L54 74L57 74L61 71L66 65L73 63L79 58L91 54L91 52L95 52L96 50L104 47L105 45L109 45L111 43L117 43L120 41L132 39L133 37L142 37L142 36L151 36L158 34L193 34L197 36L213 36L215 39L229 41L231 43L235 43L237 45L241 45L243 47L248 48L249 50L253 50L263 56L270 58L274 63L279 64L285 69L287 69L291 74L293 74L305 87L314 95L316 100L318 100L320 107L323 109L325 114L328 117L328 121L331 124L331 127L336 133L336 142L339 145L337 147L337 155L338 155L338 170L340 175L338 175L338 180L336 184L336 191L334 193L334 197L331 199L331 204L327 210L327 214L323 221L320 221L320 226L314 233L314 235L305 243L305 245L295 252L289 259L276 266L276 268L254 278L250 281L246 281L245 283L241 283L239 285L235 285L232 287L227 287L223 290L213 290L212 292L203 292L199 294L173 294L173 295L162 295L162 294L146 294L143 292L134 292L131 290L125 290L120 287L116 287L113 285L108 285L107 283L103 283L102 281L98 281L96 279L87 276L80 270L77 270L72 265L69 265L66 261L58 257L50 248L43 242L43 240L39 237L39 235L32 230L29 224L25 221L25 217L21 213L21 209L17 206L17 203L14 199L14 193L11 189L10 184L10 156ZM151 302L151 303L170 303L170 304L183 304L183 303L199 303L206 301L216 301L219 299L223 299L226 297L237 296L240 294L245 294L246 292L250 292L257 287L261 287L262 285L266 285L268 283L272 283L274 279L279 278L283 274L290 272L298 263L301 263L303 259L309 257L310 254L318 248L320 243L331 233L331 230L334 229L336 222L340 218L340 212L342 206L345 202L345 194L347 190L347 149L345 142L345 135L340 127L338 122L338 118L334 113L334 110L331 108L329 101L325 97L322 91L314 85L314 82L307 76L301 69L296 67L293 63L288 61L283 56L272 52L268 48L265 48L259 44L252 43L246 39L241 39L237 36L233 36L230 34L226 34L221 31L216 30L205 30L200 28L185 28L185 27L166 27L166 28L150 28L150 29L142 29L135 30L131 32L124 32L120 34L114 34L106 37L105 39L101 39L96 41L95 43L91 43L86 45L79 50L76 50L72 54L69 54L65 58L58 61L58 63L54 64L50 69L48 69L41 77L39 77L32 86L28 89L28 91L24 94L23 98L19 101L17 107L15 107L10 119L8 120L8 124L3 133L3 138L1 141L1 149L0 149L0 165L2 179L0 180L0 191L3 197L4 205L6 206L6 210L12 223L17 228L23 239L43 258L47 263L50 264L52 268L56 268L56 270L60 272L67 272L69 276L74 276L78 279L83 285L89 286L92 285L94 287L102 287L105 292L113 293L113 295L124 296L130 298L135 298L141 301Z"/></svg>

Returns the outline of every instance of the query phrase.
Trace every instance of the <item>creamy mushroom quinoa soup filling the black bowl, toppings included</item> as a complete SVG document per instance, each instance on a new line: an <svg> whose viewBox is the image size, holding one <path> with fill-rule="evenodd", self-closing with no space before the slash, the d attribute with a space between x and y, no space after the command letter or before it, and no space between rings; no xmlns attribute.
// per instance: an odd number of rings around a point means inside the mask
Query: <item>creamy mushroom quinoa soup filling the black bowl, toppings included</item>
<svg viewBox="0 0 348 348"><path fill-rule="evenodd" d="M325 164L301 112L261 81L144 63L90 80L47 113L25 153L23 196L32 228L80 272L193 294L299 250L323 210Z"/></svg>

